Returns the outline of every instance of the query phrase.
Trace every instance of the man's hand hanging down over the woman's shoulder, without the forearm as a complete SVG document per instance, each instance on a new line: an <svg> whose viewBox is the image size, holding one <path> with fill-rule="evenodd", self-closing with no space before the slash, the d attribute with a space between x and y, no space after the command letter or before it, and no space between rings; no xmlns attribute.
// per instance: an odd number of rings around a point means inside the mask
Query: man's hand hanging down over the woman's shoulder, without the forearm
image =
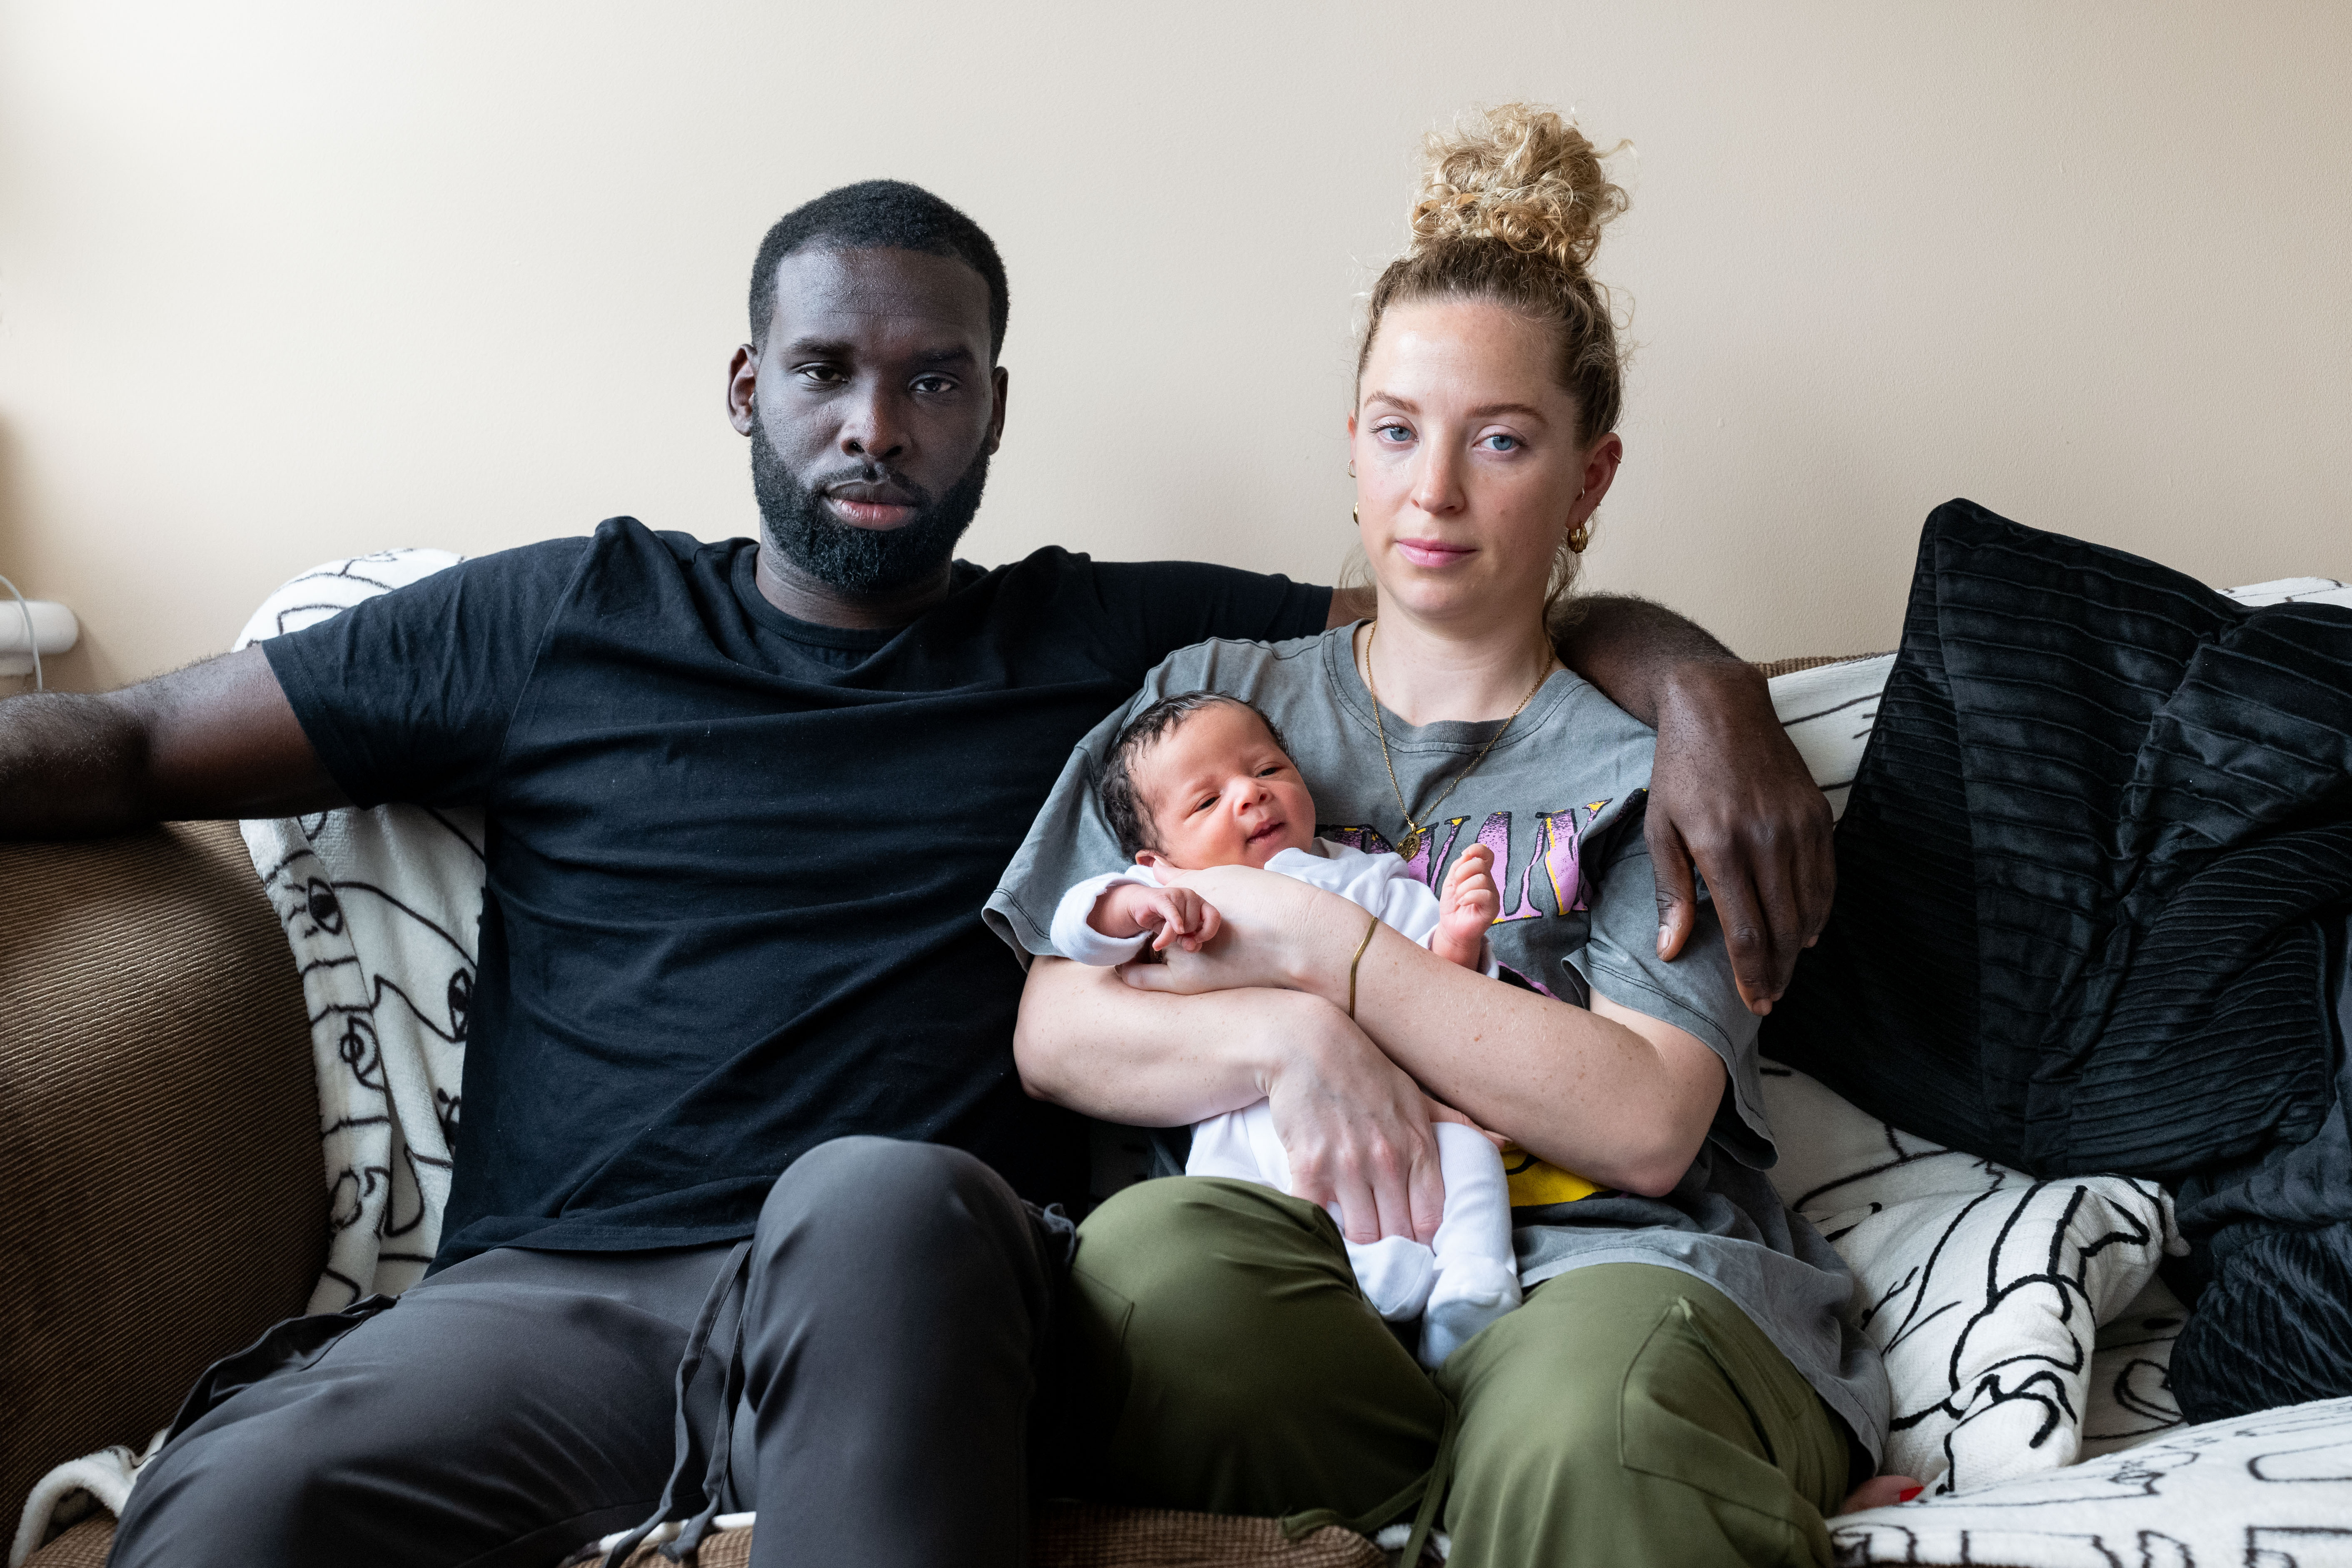
<svg viewBox="0 0 2352 1568"><path fill-rule="evenodd" d="M1696 863L1724 922L1740 999L1769 1013L1797 954L1830 919L1830 802L1773 715L1764 677L1726 661L1679 665L1658 703L1644 825L1658 879L1658 957L1679 954L1698 924Z"/></svg>

